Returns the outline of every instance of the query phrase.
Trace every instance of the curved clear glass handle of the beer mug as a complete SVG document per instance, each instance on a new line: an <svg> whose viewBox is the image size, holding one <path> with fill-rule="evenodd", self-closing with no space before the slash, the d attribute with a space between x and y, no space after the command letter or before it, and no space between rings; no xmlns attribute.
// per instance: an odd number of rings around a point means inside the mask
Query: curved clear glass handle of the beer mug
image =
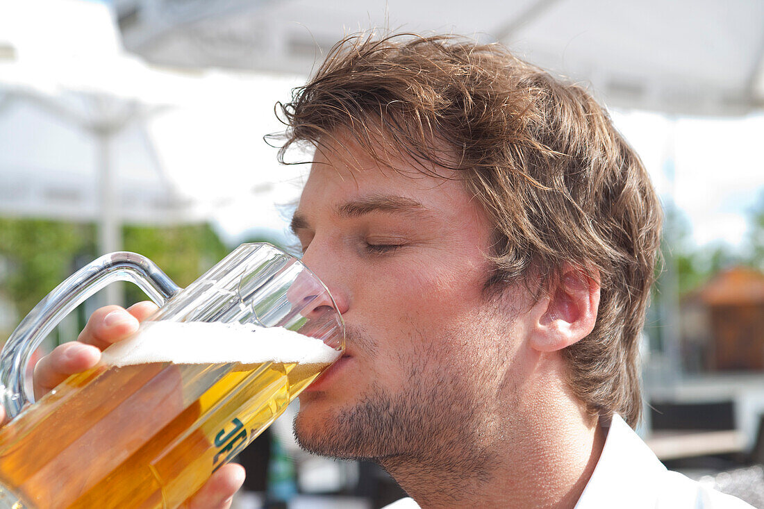
<svg viewBox="0 0 764 509"><path fill-rule="evenodd" d="M25 373L40 342L83 300L114 281L138 285L160 306L180 291L153 261L127 251L105 254L76 271L34 306L0 353L0 404L9 419L16 417L24 404L34 402Z"/></svg>

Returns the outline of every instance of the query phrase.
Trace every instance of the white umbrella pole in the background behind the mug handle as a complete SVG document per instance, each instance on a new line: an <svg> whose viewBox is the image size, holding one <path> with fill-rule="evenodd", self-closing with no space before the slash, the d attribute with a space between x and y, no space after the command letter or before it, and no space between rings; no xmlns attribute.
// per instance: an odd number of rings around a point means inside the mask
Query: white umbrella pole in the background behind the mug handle
<svg viewBox="0 0 764 509"><path fill-rule="evenodd" d="M114 169L112 168L111 141L113 131L97 129L99 162L99 197L100 218L98 225L99 254L121 250L121 230L117 212L117 193L115 191ZM122 285L110 284L103 291L105 303L123 305Z"/></svg>

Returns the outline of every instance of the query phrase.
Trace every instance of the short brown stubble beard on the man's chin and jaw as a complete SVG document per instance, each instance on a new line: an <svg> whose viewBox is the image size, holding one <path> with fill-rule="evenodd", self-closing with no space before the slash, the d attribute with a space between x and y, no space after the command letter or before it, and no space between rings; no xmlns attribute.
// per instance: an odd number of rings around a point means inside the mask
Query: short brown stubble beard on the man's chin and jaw
<svg viewBox="0 0 764 509"><path fill-rule="evenodd" d="M403 389L389 394L372 383L362 399L332 409L323 426L309 426L302 413L294 420L303 449L338 459L367 460L387 469L406 488L403 478L427 478L434 492L452 490L460 472L488 478L495 456L481 448L481 402L474 381L454 376L461 371L441 361L421 338ZM442 479L438 482L437 479Z"/></svg>

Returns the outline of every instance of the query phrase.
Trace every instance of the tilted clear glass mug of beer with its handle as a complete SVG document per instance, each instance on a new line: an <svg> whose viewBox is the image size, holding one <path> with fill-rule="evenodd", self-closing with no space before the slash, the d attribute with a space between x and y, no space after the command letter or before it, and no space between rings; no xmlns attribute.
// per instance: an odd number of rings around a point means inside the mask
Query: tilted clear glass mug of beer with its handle
<svg viewBox="0 0 764 509"><path fill-rule="evenodd" d="M114 280L160 310L22 411L34 349ZM99 258L2 351L0 399L15 418L0 429L0 508L178 506L342 355L336 309L315 274L268 244L239 246L184 290L138 254Z"/></svg>

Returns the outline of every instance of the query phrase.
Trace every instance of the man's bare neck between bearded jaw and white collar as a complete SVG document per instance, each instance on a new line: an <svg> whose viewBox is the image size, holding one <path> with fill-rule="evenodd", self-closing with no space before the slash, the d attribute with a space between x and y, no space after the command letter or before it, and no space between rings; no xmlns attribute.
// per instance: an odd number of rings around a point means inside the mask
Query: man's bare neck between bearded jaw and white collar
<svg viewBox="0 0 764 509"><path fill-rule="evenodd" d="M487 468L469 459L443 463L394 458L382 466L422 509L430 507L545 507L571 509L604 447L606 431L558 413L519 433L490 440ZM568 417L569 417L568 413ZM516 426L513 426L517 430ZM481 440L478 450L485 450Z"/></svg>

